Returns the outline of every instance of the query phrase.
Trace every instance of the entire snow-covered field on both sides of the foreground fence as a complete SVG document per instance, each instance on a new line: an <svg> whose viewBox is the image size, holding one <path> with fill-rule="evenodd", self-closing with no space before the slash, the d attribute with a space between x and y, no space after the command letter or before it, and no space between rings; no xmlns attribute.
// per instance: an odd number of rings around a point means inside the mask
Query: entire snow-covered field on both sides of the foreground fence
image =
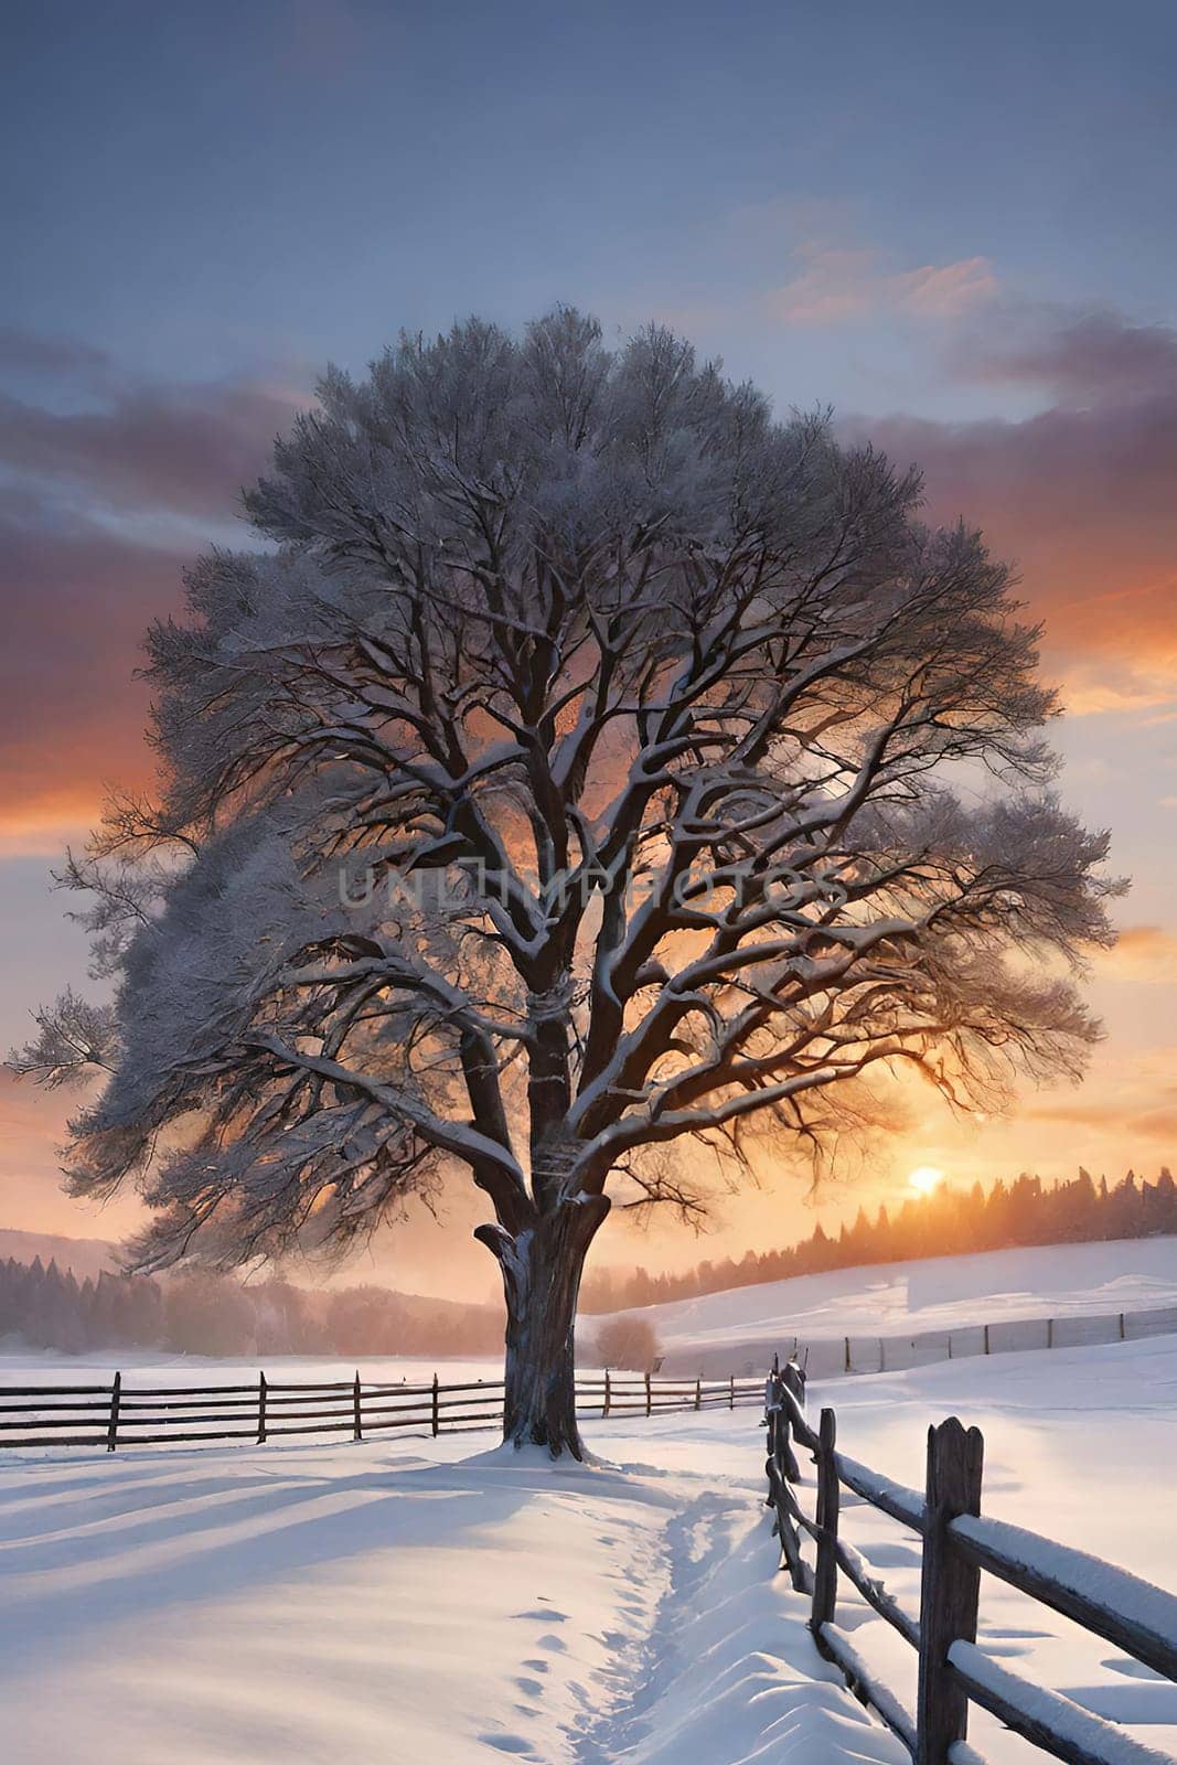
<svg viewBox="0 0 1177 1765"><path fill-rule="evenodd" d="M1175 1340L838 1380L829 1398L843 1451L912 1484L928 1419L979 1423L988 1513L1177 1587ZM476 1435L0 1454L7 1756L900 1765L775 1574L755 1412L586 1433L621 1468L505 1458ZM843 1513L916 1606L914 1541ZM990 1578L981 1619L999 1659L1177 1749L1177 1687ZM852 1601L840 1622L911 1694L898 1638ZM1039 1756L979 1714L974 1740L993 1765Z"/></svg>

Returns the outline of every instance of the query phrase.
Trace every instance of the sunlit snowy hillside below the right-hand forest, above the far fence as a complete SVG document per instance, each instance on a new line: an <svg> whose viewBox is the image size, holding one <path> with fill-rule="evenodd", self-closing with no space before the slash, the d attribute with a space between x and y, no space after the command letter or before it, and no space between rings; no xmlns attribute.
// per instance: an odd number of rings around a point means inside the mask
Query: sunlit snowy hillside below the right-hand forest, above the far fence
<svg viewBox="0 0 1177 1765"><path fill-rule="evenodd" d="M709 1373L759 1370L794 1338L911 1338L1175 1304L1177 1237L1147 1237L835 1269L646 1306L641 1317L658 1333L667 1371Z"/></svg>

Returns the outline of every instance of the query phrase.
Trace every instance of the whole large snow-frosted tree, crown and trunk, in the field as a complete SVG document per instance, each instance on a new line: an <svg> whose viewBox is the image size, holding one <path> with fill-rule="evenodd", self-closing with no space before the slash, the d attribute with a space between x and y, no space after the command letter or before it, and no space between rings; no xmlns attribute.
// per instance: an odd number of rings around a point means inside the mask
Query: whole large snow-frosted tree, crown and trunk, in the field
<svg viewBox="0 0 1177 1765"><path fill-rule="evenodd" d="M697 1214L699 1142L831 1145L872 1070L962 1108L1078 1073L1105 838L1048 791L1008 570L918 494L660 328L330 371L245 498L266 547L150 634L159 803L67 875L116 1004L18 1057L108 1070L69 1183L139 1181L138 1264L348 1243L464 1168L506 1437L579 1453L611 1200Z"/></svg>

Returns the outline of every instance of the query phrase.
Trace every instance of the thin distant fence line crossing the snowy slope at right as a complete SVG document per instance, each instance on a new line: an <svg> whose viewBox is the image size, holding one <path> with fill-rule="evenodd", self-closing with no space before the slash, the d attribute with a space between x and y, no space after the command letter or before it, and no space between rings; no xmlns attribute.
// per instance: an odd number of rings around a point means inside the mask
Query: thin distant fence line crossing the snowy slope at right
<svg viewBox="0 0 1177 1765"><path fill-rule="evenodd" d="M771 1329L764 1326L766 1333ZM1151 1306L1143 1311L1075 1313L1059 1318L997 1318L992 1324L958 1324L946 1329L925 1329L907 1336L803 1336L782 1338L773 1343L720 1341L697 1354L693 1348L671 1348L671 1364L690 1364L692 1371L708 1373L715 1366L725 1371L738 1359L745 1373L764 1364L773 1348L789 1352L812 1378L836 1378L840 1373L903 1373L912 1366L933 1366L937 1361L967 1361L983 1354L1011 1354L1029 1348L1087 1348L1112 1341L1143 1341L1147 1336L1177 1336L1177 1306Z"/></svg>

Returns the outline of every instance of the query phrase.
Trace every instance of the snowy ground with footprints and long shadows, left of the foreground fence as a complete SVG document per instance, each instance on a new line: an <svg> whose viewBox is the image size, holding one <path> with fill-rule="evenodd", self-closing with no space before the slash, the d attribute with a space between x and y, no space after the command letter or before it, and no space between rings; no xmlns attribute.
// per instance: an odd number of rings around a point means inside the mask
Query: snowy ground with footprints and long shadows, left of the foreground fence
<svg viewBox="0 0 1177 1765"><path fill-rule="evenodd" d="M626 1470L469 1438L12 1454L7 1756L895 1761L773 1574L753 1416L709 1421L600 1430Z"/></svg>

